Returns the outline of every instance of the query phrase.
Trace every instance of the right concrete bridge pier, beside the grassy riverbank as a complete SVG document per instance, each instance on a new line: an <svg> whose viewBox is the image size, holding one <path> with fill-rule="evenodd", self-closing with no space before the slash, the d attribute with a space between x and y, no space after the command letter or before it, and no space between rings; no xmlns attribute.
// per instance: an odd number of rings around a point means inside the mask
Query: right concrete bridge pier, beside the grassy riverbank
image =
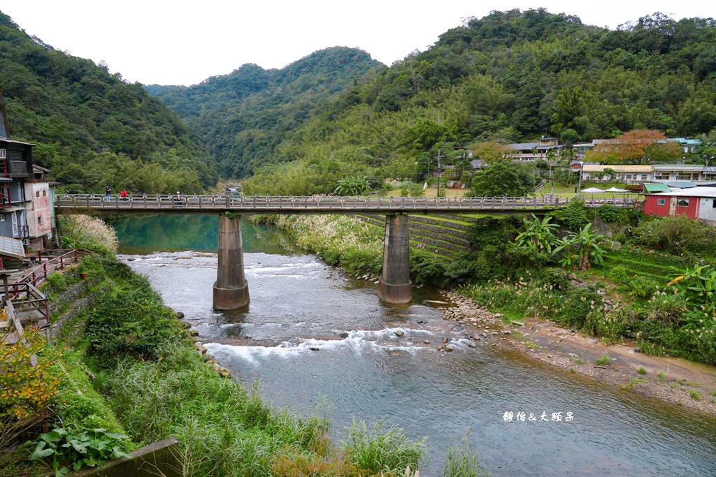
<svg viewBox="0 0 716 477"><path fill-rule="evenodd" d="M403 304L412 300L410 282L410 243L406 214L385 216L383 270L378 285L380 299L386 303Z"/></svg>

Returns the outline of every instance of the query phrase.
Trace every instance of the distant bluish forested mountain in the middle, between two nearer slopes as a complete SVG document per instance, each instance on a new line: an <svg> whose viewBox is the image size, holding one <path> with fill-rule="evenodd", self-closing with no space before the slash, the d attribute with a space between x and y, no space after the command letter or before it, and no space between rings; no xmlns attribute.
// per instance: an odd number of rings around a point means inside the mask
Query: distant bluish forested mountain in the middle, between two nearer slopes
<svg viewBox="0 0 716 477"><path fill-rule="evenodd" d="M243 177L276 160L276 146L321 102L384 66L365 51L337 46L282 69L244 64L192 87L150 85L147 91L185 119L218 160L223 174Z"/></svg>

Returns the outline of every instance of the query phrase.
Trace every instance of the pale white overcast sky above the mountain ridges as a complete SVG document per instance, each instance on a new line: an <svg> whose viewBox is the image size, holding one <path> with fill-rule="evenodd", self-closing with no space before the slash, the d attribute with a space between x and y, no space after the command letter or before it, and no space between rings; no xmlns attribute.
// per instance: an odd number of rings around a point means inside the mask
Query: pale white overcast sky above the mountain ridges
<svg viewBox="0 0 716 477"><path fill-rule="evenodd" d="M195 84L244 63L281 68L329 46L364 49L390 65L469 16L544 6L615 28L662 11L714 16L709 0L156 1L4 0L28 34L144 84Z"/></svg>

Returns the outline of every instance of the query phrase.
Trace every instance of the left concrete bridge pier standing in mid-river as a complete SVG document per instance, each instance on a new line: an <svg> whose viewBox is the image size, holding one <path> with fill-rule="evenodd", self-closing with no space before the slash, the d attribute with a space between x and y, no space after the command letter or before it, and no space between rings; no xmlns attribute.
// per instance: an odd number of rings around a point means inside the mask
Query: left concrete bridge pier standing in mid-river
<svg viewBox="0 0 716 477"><path fill-rule="evenodd" d="M218 311L243 311L248 308L248 283L243 276L241 215L219 215L219 262L213 308Z"/></svg>

